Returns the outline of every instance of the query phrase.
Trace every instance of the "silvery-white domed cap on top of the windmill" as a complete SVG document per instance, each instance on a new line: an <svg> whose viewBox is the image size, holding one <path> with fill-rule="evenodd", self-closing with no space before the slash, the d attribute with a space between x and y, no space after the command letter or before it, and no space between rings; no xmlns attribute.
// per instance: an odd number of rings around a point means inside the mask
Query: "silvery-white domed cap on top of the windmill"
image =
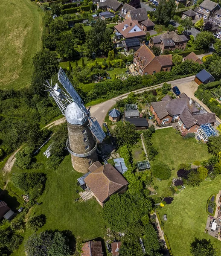
<svg viewBox="0 0 221 256"><path fill-rule="evenodd" d="M83 125L86 120L84 113L81 111L76 102L72 102L67 106L65 117L67 122L72 125Z"/></svg>

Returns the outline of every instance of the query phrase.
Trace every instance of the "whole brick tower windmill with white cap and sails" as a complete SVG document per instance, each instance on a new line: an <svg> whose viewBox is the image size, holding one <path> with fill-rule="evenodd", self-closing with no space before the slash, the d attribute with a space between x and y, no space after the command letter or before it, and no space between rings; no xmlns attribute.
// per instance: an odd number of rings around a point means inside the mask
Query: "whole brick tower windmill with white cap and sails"
<svg viewBox="0 0 221 256"><path fill-rule="evenodd" d="M88 110L85 108L84 102L61 67L58 72L58 81L66 92L58 87L58 83L53 86L52 82L50 84L46 80L44 85L47 87L47 91L50 92L50 96L54 98L61 113L66 117L68 129L67 150L71 154L73 168L77 172L86 173L88 167L97 161L96 138L102 142L106 135L96 118L90 116L90 108Z"/></svg>

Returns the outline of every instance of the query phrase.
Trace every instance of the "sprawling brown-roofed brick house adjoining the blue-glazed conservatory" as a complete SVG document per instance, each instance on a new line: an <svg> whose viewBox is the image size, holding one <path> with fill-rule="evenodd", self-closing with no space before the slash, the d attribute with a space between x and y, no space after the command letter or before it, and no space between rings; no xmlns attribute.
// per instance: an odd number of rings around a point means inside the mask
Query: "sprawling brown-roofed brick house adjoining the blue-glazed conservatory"
<svg viewBox="0 0 221 256"><path fill-rule="evenodd" d="M180 96L171 99L167 95L160 102L151 102L150 110L159 125L178 122L183 133L196 133L202 124L216 122L215 113L200 113L185 93Z"/></svg>

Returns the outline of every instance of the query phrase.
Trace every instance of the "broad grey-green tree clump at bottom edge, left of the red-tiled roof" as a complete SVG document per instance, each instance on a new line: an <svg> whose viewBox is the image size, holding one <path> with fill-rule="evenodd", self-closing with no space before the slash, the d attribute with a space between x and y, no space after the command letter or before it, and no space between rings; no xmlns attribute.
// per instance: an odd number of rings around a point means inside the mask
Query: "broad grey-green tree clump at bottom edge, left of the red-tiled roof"
<svg viewBox="0 0 221 256"><path fill-rule="evenodd" d="M25 244L27 256L70 256L69 240L61 231L33 233Z"/></svg>

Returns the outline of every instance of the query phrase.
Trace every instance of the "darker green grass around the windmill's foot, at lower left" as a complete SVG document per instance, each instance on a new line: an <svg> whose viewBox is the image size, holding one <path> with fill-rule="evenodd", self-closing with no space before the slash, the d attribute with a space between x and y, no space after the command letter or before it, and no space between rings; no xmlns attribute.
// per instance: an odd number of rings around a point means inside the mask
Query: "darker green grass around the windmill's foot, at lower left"
<svg viewBox="0 0 221 256"><path fill-rule="evenodd" d="M45 145L40 153L37 155L36 160L41 163L47 162L43 152L47 149L49 144ZM44 193L38 199L40 205L35 205L30 211L32 214L44 214L47 217L47 222L38 232L43 230L70 230L73 235L79 237L82 241L103 237L105 234L105 223L102 219L102 207L98 204L95 198L86 202L75 202L79 198L81 188L77 186L77 178L82 174L73 170L71 165L70 155L65 157L58 169L55 171L47 171L45 166L42 169L30 170L37 172L44 172L47 174L47 182ZM28 172L30 172L28 170ZM13 167L12 173L21 172L16 166ZM20 203L20 195L22 194L19 189L15 189L11 182L8 185L9 194L14 190L18 194L18 201ZM17 206L18 207L18 206ZM24 242L15 251L13 256L25 256L24 244L28 237L31 235L30 230L26 230L23 234Z"/></svg>

